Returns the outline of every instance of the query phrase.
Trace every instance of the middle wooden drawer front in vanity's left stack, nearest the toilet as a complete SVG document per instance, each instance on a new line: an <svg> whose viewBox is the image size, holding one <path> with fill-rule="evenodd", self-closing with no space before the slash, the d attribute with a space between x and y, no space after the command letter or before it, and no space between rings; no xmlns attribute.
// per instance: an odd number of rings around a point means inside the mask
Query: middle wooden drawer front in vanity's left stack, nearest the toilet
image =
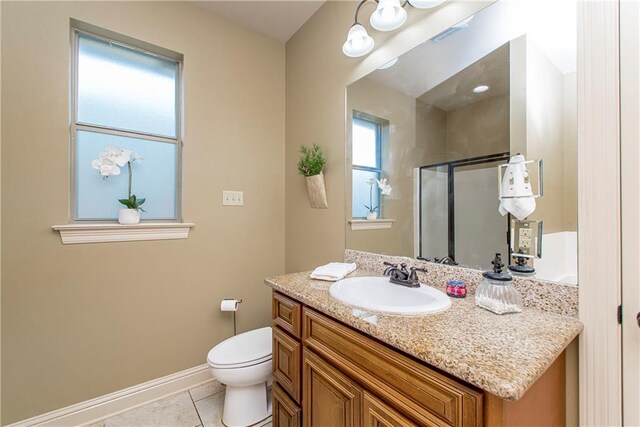
<svg viewBox="0 0 640 427"><path fill-rule="evenodd" d="M279 327L273 328L273 379L300 402L300 343L282 332Z"/></svg>

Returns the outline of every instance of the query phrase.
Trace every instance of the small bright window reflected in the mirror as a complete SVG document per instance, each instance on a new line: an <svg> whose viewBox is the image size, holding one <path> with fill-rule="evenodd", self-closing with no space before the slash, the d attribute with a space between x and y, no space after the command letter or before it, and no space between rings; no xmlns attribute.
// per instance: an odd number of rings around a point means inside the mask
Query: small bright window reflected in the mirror
<svg viewBox="0 0 640 427"><path fill-rule="evenodd" d="M377 117L353 112L352 141L352 217L365 218L369 209L378 207L382 216L380 189L372 180L382 174L382 141L386 121ZM373 206L371 206L373 204Z"/></svg>

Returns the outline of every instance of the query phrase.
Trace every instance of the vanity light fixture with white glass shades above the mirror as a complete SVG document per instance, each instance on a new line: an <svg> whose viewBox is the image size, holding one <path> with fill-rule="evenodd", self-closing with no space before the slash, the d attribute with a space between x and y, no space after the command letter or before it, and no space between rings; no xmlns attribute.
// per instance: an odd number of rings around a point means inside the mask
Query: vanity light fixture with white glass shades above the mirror
<svg viewBox="0 0 640 427"><path fill-rule="evenodd" d="M407 21L407 11L404 10L407 4L417 9L430 9L441 5L446 0L361 0L356 8L354 23L347 34L347 41L342 45L342 52L351 58L368 54L375 45L373 38L358 22L358 13L368 1L375 1L378 4L369 19L371 26L378 31L393 31L402 27Z"/></svg>

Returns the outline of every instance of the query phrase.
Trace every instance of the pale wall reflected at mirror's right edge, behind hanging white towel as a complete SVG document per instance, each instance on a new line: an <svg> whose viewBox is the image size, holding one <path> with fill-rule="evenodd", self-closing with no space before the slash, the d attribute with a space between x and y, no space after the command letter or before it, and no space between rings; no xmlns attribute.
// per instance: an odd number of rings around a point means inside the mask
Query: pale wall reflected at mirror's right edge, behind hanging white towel
<svg viewBox="0 0 640 427"><path fill-rule="evenodd" d="M530 218L544 220L545 234L576 231L576 74L563 75L525 36L511 42L510 58L511 152L544 159L544 197Z"/></svg>

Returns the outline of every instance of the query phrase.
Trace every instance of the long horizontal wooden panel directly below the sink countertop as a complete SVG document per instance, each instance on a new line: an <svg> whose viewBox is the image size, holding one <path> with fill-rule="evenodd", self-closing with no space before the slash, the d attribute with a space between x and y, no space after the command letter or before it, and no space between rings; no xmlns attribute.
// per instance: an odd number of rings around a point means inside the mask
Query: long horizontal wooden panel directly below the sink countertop
<svg viewBox="0 0 640 427"><path fill-rule="evenodd" d="M393 407L420 424L476 426L482 422L482 392L307 307L303 308L303 345L331 360L365 388L384 395Z"/></svg>

